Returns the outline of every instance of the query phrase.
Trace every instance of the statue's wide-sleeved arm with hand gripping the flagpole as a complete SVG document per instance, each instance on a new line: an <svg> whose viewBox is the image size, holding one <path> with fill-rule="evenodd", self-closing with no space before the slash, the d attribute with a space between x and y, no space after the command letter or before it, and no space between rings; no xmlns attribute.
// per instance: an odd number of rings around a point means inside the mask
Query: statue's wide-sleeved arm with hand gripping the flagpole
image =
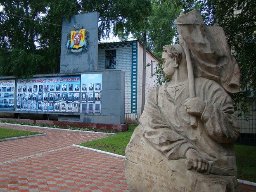
<svg viewBox="0 0 256 192"><path fill-rule="evenodd" d="M230 143L239 136L231 97L214 81L206 80L199 86L199 97L188 99L185 108L188 114L197 115L213 140Z"/></svg>

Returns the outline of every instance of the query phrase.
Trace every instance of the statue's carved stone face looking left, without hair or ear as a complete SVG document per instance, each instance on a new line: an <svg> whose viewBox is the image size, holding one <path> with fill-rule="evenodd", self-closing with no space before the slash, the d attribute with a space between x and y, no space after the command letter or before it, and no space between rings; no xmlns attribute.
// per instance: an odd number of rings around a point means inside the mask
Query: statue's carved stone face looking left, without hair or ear
<svg viewBox="0 0 256 192"><path fill-rule="evenodd" d="M167 52L163 52L162 54L163 66L162 69L164 71L166 78L171 78L175 72L175 59L171 58Z"/></svg>

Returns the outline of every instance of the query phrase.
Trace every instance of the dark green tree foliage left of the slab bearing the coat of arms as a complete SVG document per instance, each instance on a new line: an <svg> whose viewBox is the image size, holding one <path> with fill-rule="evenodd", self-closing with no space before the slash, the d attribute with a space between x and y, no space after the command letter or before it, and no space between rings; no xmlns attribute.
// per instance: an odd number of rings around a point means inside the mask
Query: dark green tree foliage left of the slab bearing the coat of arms
<svg viewBox="0 0 256 192"><path fill-rule="evenodd" d="M57 72L61 26L42 21L61 25L78 13L76 1L1 0L0 5L0 75Z"/></svg>

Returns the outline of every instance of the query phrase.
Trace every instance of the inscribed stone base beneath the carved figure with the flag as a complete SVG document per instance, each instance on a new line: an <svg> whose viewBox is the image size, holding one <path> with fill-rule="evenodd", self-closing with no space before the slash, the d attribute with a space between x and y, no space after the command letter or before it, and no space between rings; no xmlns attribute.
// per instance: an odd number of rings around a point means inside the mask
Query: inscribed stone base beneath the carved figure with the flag
<svg viewBox="0 0 256 192"><path fill-rule="evenodd" d="M235 176L197 173L187 169L186 159L167 160L141 135L141 128L136 128L126 147L131 192L239 192Z"/></svg>

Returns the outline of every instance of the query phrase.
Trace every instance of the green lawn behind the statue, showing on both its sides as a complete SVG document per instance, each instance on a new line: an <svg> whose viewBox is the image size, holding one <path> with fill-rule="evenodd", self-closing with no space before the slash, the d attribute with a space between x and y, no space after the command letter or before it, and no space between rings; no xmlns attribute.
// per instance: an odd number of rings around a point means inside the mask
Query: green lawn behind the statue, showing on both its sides
<svg viewBox="0 0 256 192"><path fill-rule="evenodd" d="M130 126L130 130L127 132L117 133L116 135L98 140L87 141L79 145L125 155L126 145L135 128L136 126ZM238 169L237 177L242 180L256 182L256 146L235 145L235 152Z"/></svg>

